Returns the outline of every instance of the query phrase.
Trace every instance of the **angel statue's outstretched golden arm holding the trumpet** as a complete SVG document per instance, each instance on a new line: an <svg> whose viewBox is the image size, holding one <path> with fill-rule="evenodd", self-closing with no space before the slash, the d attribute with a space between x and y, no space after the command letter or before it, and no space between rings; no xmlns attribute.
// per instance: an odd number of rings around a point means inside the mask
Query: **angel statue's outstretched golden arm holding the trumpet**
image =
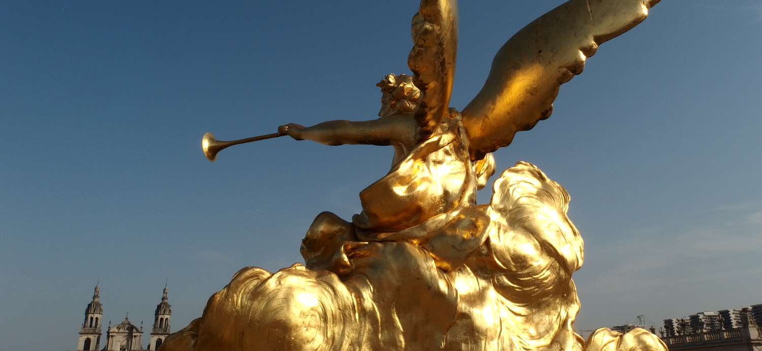
<svg viewBox="0 0 762 351"><path fill-rule="evenodd" d="M278 127L281 135L296 140L312 140L325 145L406 145L415 144L418 125L411 116L389 116L378 120L331 120L315 126L290 123Z"/></svg>

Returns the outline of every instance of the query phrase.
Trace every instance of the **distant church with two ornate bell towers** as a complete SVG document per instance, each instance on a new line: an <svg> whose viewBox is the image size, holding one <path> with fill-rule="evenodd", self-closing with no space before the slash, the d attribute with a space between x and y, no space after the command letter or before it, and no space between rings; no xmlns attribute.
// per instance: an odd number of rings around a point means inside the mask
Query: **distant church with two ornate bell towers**
<svg viewBox="0 0 762 351"><path fill-rule="evenodd" d="M129 314L124 317L122 323L114 325L114 327L110 325L107 327L106 340L103 349L101 349L103 305L100 302L100 294L101 287L96 285L93 299L85 308L85 323L79 330L77 351L155 351L159 346L162 346L162 342L170 334L169 321L172 315L166 286L162 295L162 302L156 306L154 311L151 339L146 349L142 347L142 325L136 327L130 323Z"/></svg>

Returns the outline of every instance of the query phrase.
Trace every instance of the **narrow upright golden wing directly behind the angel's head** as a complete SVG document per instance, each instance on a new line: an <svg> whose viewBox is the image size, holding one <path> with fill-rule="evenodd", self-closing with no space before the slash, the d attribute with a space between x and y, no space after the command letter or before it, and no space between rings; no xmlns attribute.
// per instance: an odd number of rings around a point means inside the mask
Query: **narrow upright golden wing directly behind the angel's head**
<svg viewBox="0 0 762 351"><path fill-rule="evenodd" d="M421 90L414 116L422 141L431 137L448 113L458 49L457 0L421 0L413 16L412 35L408 66Z"/></svg>

